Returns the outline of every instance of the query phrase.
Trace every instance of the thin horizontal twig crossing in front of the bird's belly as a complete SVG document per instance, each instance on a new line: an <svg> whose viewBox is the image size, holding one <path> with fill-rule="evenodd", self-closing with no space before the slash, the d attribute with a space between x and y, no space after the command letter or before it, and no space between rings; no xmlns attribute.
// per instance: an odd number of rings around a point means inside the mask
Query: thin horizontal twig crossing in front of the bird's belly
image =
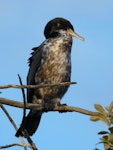
<svg viewBox="0 0 113 150"><path fill-rule="evenodd" d="M68 86L71 84L77 84L76 82L62 82L62 83L55 83L55 84L40 84L40 85L15 85L15 84L8 84L0 86L0 89L6 89L6 88L42 88L42 87L53 87L53 86Z"/></svg>

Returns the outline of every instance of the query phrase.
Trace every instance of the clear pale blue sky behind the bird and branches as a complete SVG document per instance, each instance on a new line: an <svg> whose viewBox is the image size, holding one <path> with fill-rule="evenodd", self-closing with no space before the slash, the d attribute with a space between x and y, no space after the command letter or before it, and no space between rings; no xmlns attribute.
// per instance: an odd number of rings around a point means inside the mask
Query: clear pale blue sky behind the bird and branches
<svg viewBox="0 0 113 150"><path fill-rule="evenodd" d="M26 84L27 59L31 48L44 41L46 23L55 17L71 21L85 37L73 39L72 81L62 103L94 110L95 103L108 106L113 100L113 1L112 0L1 0L0 1L0 85L19 84L19 73ZM22 101L21 91L2 90L1 97ZM22 110L7 110L19 127ZM0 110L0 145L19 142L15 130ZM97 133L107 130L101 122L91 122L78 113L46 113L32 137L39 150L93 150ZM103 150L101 145L98 148ZM20 147L9 148L20 150Z"/></svg>

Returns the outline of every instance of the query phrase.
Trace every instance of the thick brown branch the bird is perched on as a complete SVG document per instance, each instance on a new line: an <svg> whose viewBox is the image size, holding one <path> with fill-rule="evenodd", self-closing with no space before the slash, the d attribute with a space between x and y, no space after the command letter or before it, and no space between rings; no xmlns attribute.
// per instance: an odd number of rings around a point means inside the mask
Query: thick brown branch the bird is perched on
<svg viewBox="0 0 113 150"><path fill-rule="evenodd" d="M9 106L14 106L14 107L18 107L18 108L23 108L24 104L22 102L17 102L17 101L13 101L13 100L9 100L9 99L5 99L5 98L0 98L0 104L5 104L5 105L9 105ZM61 105L61 106L56 106L55 108L48 108L48 105L44 105L44 107L42 107L42 105L40 104L31 104L31 103L27 103L26 104L26 109L34 109L34 110L42 110L42 111L59 111L59 112L78 112L81 114L85 114L85 115L90 115L90 116L98 116L98 112L93 112L93 111L89 111L86 109L82 109L79 107L71 107L71 106L66 106L66 105Z"/></svg>

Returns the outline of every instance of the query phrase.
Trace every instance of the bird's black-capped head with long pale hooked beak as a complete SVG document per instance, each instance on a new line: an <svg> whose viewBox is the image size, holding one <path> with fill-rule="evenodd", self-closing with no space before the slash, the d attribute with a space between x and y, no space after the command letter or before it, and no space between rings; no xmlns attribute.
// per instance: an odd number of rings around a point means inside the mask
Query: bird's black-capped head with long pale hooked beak
<svg viewBox="0 0 113 150"><path fill-rule="evenodd" d="M64 18L55 18L47 23L44 30L44 35L48 39L50 37L56 37L59 30L67 31L71 36L76 37L82 41L84 38L75 33L72 24Z"/></svg>

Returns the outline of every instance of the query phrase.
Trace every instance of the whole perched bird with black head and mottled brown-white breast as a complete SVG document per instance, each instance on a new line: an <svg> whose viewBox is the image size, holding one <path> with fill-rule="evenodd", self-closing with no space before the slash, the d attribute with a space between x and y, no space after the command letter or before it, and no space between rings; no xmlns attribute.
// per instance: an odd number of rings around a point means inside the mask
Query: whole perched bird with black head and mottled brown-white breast
<svg viewBox="0 0 113 150"><path fill-rule="evenodd" d="M36 48L33 48L29 59L29 72L27 84L52 84L69 82L71 77L71 46L72 36L83 40L74 33L71 23L63 18L55 18L48 22L44 34L46 40ZM66 87L45 87L27 90L27 101L29 103L60 104L60 100L66 93ZM42 112L30 110L24 121L24 127L29 135L32 135L40 122ZM23 125L21 125L23 126ZM23 135L22 127L16 136Z"/></svg>

